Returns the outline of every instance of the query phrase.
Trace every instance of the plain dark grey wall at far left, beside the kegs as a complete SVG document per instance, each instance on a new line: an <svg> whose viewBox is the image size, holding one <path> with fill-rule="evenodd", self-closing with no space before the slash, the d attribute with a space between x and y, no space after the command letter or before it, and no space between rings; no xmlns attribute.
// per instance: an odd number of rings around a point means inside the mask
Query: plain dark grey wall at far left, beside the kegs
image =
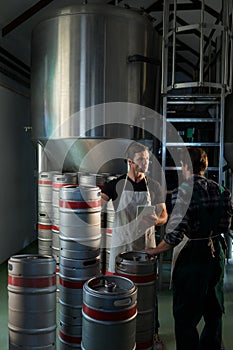
<svg viewBox="0 0 233 350"><path fill-rule="evenodd" d="M0 81L0 263L36 238L35 148L30 100Z"/></svg>

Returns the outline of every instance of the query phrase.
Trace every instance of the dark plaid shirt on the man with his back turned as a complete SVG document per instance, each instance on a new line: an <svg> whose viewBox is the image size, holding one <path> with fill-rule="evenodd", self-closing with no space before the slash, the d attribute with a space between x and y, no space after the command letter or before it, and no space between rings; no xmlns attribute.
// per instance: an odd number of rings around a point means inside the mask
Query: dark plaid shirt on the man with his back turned
<svg viewBox="0 0 233 350"><path fill-rule="evenodd" d="M173 210L164 240L176 246L190 239L227 233L233 215L231 193L204 176L194 175L172 194Z"/></svg>

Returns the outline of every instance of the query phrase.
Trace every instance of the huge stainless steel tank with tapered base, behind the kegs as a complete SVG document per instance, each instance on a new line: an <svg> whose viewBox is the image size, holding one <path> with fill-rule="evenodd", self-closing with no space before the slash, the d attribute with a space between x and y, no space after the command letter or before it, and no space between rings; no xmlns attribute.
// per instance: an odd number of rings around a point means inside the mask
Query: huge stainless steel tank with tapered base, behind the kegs
<svg viewBox="0 0 233 350"><path fill-rule="evenodd" d="M135 124L130 119L127 125L127 116L120 123L120 114L135 110L140 128L145 113L135 104L158 107L160 53L159 35L143 11L85 4L48 14L32 35L32 135L39 170L78 170L103 140L134 139ZM126 145L119 142L119 153ZM90 159L87 170L96 171L96 154ZM119 173L125 165L117 161L116 169L109 161L101 170L110 166Z"/></svg>

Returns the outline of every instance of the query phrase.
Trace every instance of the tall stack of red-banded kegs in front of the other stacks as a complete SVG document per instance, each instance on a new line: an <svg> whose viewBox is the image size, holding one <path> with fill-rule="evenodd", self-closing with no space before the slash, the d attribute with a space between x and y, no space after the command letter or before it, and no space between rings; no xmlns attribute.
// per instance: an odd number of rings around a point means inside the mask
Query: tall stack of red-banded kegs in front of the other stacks
<svg viewBox="0 0 233 350"><path fill-rule="evenodd" d="M60 349L81 349L83 285L100 275L100 189L60 190Z"/></svg>

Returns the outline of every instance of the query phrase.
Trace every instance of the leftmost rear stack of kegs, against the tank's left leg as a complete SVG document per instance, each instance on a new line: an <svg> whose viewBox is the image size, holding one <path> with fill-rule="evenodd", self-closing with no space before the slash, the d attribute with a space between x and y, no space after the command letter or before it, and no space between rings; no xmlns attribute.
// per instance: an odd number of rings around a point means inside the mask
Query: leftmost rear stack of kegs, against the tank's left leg
<svg viewBox="0 0 233 350"><path fill-rule="evenodd" d="M38 176L38 252L52 255L52 178L53 172Z"/></svg>

